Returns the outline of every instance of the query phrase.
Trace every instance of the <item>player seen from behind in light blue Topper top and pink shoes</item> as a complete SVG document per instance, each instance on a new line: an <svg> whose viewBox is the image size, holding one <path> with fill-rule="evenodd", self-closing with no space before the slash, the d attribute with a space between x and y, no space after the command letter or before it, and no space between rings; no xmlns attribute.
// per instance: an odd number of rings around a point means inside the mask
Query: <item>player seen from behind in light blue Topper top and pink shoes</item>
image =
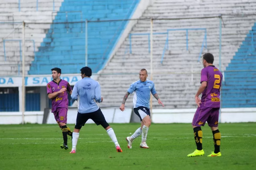
<svg viewBox="0 0 256 170"><path fill-rule="evenodd" d="M103 128L105 128L116 146L116 151L122 152L113 129L109 126L101 112L101 109L96 104L96 102L100 103L103 101L103 98L101 97L101 87L99 82L91 79L91 68L83 67L80 69L80 71L82 80L79 80L77 83L75 83L73 93L71 95L72 99L78 101L78 113L73 132L72 150L70 153L76 153L76 146L80 129L82 126L84 126L88 119L92 119L97 125L100 124Z"/></svg>

